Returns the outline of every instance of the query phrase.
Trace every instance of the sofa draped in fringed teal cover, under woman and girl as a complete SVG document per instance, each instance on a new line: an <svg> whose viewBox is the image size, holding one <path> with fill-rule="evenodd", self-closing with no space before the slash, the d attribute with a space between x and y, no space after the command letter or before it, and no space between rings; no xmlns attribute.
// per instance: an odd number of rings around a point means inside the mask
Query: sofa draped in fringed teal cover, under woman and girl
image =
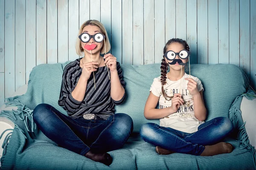
<svg viewBox="0 0 256 170"><path fill-rule="evenodd" d="M182 153L158 155L153 145L140 138L141 125L147 122L159 124L159 120L145 119L143 110L151 83L155 77L160 76L160 64L121 65L127 96L125 102L116 106L115 109L116 113L127 113L131 116L134 131L121 149L109 152L113 157L113 162L110 166L106 166L58 147L55 142L44 136L33 122L33 109L40 103L48 103L63 114L67 114L63 108L58 106L58 98L62 73L68 63L36 66L30 73L28 86L23 87L26 93L17 96L14 94L2 106L0 125L6 125L4 126L6 130L1 129L4 132L1 136L4 138L4 140L1 139L3 140L1 158L3 170L256 169L256 151L253 147L256 142L253 129L256 120L253 121L253 118L256 118L256 94L249 89L246 74L238 66L231 64L191 65L191 74L198 77L204 86L206 121L225 116L232 120L235 127L233 133L224 139L225 142L233 144L232 153L193 156ZM241 104L244 109L242 112ZM246 116L242 117L242 115ZM246 119L249 125L243 119ZM247 133L247 129L250 134ZM253 145L250 139L254 142Z"/></svg>

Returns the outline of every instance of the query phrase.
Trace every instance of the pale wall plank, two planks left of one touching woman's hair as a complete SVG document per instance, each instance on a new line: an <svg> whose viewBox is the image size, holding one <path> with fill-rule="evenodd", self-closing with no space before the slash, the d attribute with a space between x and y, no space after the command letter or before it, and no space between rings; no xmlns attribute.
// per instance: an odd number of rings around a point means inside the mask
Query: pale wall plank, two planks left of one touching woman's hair
<svg viewBox="0 0 256 170"><path fill-rule="evenodd" d="M58 1L47 1L47 63L58 61Z"/></svg>

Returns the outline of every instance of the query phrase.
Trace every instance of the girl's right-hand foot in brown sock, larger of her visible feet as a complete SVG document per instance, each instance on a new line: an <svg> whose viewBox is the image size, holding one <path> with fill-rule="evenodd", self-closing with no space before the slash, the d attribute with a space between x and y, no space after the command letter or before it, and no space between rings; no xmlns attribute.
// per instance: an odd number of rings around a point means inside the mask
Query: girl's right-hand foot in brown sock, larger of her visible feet
<svg viewBox="0 0 256 170"><path fill-rule="evenodd" d="M230 143L219 142L214 145L207 145L201 156L213 156L222 153L230 153L233 150L233 146Z"/></svg>

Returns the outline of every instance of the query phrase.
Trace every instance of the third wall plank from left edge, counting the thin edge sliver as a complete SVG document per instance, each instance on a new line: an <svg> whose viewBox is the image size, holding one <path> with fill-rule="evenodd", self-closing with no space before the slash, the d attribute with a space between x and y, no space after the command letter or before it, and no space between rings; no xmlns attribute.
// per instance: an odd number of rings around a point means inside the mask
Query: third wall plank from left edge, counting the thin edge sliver
<svg viewBox="0 0 256 170"><path fill-rule="evenodd" d="M15 91L26 84L25 44L26 44L26 1L15 3Z"/></svg>

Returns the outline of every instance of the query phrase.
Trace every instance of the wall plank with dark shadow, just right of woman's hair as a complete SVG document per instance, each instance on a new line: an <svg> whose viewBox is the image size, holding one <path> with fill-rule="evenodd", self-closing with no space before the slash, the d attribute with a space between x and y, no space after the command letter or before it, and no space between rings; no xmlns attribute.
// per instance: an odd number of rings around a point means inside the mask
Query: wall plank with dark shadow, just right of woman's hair
<svg viewBox="0 0 256 170"><path fill-rule="evenodd" d="M111 0L111 49L116 61L122 63L122 1Z"/></svg>

